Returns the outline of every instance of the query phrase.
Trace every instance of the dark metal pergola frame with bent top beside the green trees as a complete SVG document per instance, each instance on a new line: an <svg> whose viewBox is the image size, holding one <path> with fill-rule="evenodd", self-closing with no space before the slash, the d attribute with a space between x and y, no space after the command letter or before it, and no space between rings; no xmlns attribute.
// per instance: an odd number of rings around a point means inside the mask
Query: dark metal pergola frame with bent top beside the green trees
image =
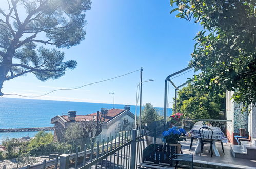
<svg viewBox="0 0 256 169"><path fill-rule="evenodd" d="M178 72L175 72L175 73L173 73L173 74L167 76L166 79L165 79L165 99L164 99L164 101L165 101L165 103L164 103L164 121L165 121L165 123L167 122L167 121L166 121L166 120L167 120L167 118L166 118L166 112L167 112L167 104L168 104L168 103L167 103L167 82L169 81L169 82L171 83L171 85L175 88L175 113L176 113L176 109L177 109L177 91L179 90L180 87L186 85L186 84L188 83L188 81L185 82L185 83L183 83L182 85L176 86L176 85L171 81L170 77L175 76L175 75L178 75L178 74L180 74L180 73L182 73L182 72L184 72L184 71L186 71L186 70L188 70L188 69L190 69L190 67L187 67L187 68L184 68L184 69L182 69L182 70L180 70L180 71L178 71Z"/></svg>

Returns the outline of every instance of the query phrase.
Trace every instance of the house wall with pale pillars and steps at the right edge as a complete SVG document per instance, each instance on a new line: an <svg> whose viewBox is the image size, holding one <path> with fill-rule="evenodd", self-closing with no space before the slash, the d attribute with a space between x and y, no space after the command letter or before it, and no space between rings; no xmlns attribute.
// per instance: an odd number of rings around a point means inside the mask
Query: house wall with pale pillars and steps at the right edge
<svg viewBox="0 0 256 169"><path fill-rule="evenodd" d="M247 112L241 112L242 104L231 100L233 91L226 92L226 119L232 120L232 126L227 128L228 140L231 145L231 152L234 157L256 160L256 107L249 107ZM247 141L241 141L238 145L235 136L240 135L241 128L247 133ZM245 139L246 140L246 139Z"/></svg>

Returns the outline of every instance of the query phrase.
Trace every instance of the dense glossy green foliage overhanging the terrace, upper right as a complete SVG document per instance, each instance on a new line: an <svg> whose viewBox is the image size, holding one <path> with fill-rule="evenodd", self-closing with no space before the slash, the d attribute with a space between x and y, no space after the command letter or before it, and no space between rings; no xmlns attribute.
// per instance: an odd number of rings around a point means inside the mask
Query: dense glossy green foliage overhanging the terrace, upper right
<svg viewBox="0 0 256 169"><path fill-rule="evenodd" d="M234 91L245 107L256 103L256 1L171 0L176 17L194 20L203 30L195 36L190 66L207 90Z"/></svg>

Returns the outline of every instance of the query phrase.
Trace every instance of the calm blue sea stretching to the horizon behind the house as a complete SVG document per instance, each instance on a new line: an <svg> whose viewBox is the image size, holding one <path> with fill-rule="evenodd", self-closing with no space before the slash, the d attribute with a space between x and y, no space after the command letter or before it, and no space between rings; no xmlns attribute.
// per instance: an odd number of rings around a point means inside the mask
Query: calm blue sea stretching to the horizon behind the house
<svg viewBox="0 0 256 169"><path fill-rule="evenodd" d="M114 107L124 109L124 105L121 104L115 104ZM113 104L0 97L0 129L54 126L51 124L51 118L62 114L67 115L68 110L77 111L77 115L86 115L100 111L101 108L111 109ZM163 115L163 108L155 108L159 114ZM135 114L134 105L131 105L130 111ZM137 107L138 112L139 107ZM168 115L170 114L172 110L168 109ZM5 138L34 137L36 133L0 132L0 144Z"/></svg>

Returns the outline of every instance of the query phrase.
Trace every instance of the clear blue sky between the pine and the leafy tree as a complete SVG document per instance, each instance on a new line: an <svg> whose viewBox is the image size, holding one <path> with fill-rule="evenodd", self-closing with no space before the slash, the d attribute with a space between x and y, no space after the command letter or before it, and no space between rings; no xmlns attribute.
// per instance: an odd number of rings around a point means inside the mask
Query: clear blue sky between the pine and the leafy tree
<svg viewBox="0 0 256 169"><path fill-rule="evenodd" d="M164 105L166 76L187 67L193 52L193 37L202 29L200 24L176 18L169 1L92 1L86 13L87 35L80 45L65 52L66 60L74 59L77 68L57 80L41 82L32 74L6 81L3 93L27 96L44 94L119 76L143 67L143 104ZM180 85L193 71L173 81ZM36 98L135 105L136 86L140 72L79 90L58 91ZM169 101L174 96L170 87ZM3 96L14 97L14 96ZM21 97L16 97L21 98Z"/></svg>

